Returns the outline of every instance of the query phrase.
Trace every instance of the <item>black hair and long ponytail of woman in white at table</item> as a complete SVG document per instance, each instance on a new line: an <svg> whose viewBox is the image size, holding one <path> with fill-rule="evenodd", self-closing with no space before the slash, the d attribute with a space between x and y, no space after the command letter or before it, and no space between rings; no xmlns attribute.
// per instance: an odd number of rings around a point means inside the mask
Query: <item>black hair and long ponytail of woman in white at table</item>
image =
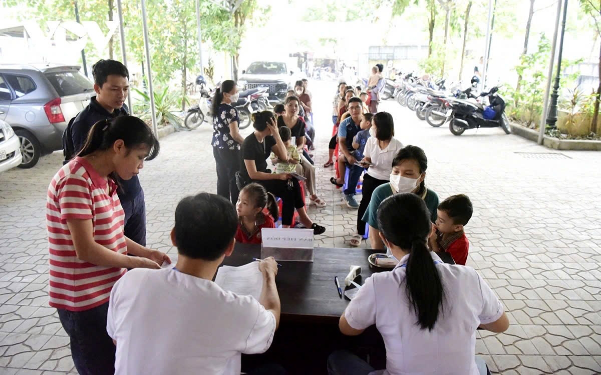
<svg viewBox="0 0 601 375"><path fill-rule="evenodd" d="M409 303L420 328L432 331L443 310L444 288L427 246L432 223L426 203L415 194L394 194L380 204L377 222L386 241L409 251L405 276Z"/></svg>

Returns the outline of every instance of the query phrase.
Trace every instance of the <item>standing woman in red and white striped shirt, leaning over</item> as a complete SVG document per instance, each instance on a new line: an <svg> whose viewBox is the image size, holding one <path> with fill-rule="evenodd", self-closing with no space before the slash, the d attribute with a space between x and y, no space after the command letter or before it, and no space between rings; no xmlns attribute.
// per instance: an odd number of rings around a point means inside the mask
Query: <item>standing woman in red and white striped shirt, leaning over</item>
<svg viewBox="0 0 601 375"><path fill-rule="evenodd" d="M70 337L80 374L114 373L115 346L106 333L112 286L127 268L160 268L165 253L123 234L119 179L137 175L159 153L159 141L139 118L120 116L91 128L84 148L48 187L50 306ZM135 254L130 257L127 254Z"/></svg>

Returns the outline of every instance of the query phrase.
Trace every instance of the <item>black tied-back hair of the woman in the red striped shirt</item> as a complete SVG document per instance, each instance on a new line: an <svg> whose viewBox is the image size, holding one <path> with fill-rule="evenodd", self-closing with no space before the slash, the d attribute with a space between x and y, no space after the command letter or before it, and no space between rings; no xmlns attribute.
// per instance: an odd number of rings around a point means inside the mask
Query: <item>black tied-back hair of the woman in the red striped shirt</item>
<svg viewBox="0 0 601 375"><path fill-rule="evenodd" d="M144 121L135 116L118 116L96 122L78 156L111 149L119 139L123 140L127 149L148 148L146 160L153 160L159 154L159 140Z"/></svg>

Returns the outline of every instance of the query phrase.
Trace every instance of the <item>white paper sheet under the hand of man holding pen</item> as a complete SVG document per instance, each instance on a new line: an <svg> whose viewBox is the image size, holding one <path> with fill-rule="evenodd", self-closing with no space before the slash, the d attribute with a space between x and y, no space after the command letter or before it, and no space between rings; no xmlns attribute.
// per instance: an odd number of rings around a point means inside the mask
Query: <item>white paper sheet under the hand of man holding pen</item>
<svg viewBox="0 0 601 375"><path fill-rule="evenodd" d="M259 262L243 266L221 266L217 269L215 283L223 290L229 290L240 296L260 298L263 290L263 274L259 271Z"/></svg>

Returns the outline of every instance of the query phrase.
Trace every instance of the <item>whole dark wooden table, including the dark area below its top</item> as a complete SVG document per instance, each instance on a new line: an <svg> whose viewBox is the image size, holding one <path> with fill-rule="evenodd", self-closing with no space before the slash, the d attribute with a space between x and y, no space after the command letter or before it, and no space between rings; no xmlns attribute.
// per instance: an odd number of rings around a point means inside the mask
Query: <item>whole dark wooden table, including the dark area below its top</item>
<svg viewBox="0 0 601 375"><path fill-rule="evenodd" d="M281 319L272 346L266 353L242 355L242 371L250 371L266 363L283 365L291 375L327 374L328 355L337 349L347 349L383 368L386 350L375 326L359 336L344 336L338 330L338 319L349 304L349 299L338 295L334 276L344 289L344 277L349 266L361 266L361 276L355 282L362 284L375 272L388 269L371 266L367 257L381 250L362 248L314 249L313 262L279 262L276 277ZM454 263L447 253L438 253L446 263ZM261 245L236 244L233 254L224 265L241 266L261 257Z"/></svg>

